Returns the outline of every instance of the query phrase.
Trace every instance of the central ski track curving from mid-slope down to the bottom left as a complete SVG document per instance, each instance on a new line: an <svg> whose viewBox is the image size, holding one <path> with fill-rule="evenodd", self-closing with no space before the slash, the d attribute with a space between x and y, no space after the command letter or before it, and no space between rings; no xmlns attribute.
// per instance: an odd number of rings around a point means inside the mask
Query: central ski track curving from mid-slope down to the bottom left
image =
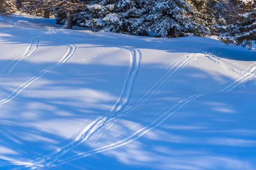
<svg viewBox="0 0 256 170"><path fill-rule="evenodd" d="M60 151L55 150L51 155L47 155L43 158L40 158L40 162L35 162L37 160L30 161L34 164L35 167L40 167L42 164L54 164L55 161L66 156L74 147L79 144L87 141L93 136L101 127L103 127L109 120L118 114L119 111L122 111L131 99L131 94L134 88L134 83L137 77L137 74L140 69L141 54L135 49L128 49L131 59L130 59L130 70L128 72L127 79L125 80L121 95L119 100L116 102L112 110L108 113L105 113L104 116L99 117L95 121L91 122L80 134L76 137L70 144L67 144L65 147L61 148ZM43 160L43 161L42 161Z"/></svg>

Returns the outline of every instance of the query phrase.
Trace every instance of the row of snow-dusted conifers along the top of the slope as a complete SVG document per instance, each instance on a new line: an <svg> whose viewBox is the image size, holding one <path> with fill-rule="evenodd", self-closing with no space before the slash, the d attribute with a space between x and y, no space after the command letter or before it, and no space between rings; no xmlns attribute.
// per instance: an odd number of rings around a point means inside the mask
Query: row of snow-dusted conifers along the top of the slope
<svg viewBox="0 0 256 170"><path fill-rule="evenodd" d="M0 4L1 13L18 8L33 15L55 15L56 23L70 29L83 26L168 38L218 35L226 44L249 48L256 41L256 0L0 0Z"/></svg>

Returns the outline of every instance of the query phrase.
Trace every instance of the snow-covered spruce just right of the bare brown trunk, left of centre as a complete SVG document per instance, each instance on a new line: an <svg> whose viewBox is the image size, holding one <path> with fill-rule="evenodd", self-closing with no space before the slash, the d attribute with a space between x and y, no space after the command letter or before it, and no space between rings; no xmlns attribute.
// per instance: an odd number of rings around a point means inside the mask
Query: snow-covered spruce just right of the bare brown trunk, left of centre
<svg viewBox="0 0 256 170"><path fill-rule="evenodd" d="M94 31L145 35L145 13L140 0L99 0L80 13L78 25Z"/></svg>

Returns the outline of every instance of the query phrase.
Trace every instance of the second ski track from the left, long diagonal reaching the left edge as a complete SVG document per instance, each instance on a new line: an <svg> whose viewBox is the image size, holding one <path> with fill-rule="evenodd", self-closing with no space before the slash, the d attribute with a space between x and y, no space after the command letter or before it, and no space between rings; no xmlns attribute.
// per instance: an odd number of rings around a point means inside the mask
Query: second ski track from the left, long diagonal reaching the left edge
<svg viewBox="0 0 256 170"><path fill-rule="evenodd" d="M22 91L24 91L26 88L28 88L30 85L32 85L33 83L39 81L41 79L41 77L44 76L44 74L50 72L52 69L58 67L59 65L64 64L65 62L70 61L70 59L72 59L77 50L78 50L78 46L77 45L66 45L67 49L64 52L64 54L61 56L61 58L58 59L57 62L55 62L54 65L52 65L49 68L46 68L42 71L40 71L38 74L36 74L35 76L33 76L32 78L30 78L29 80L27 80L26 82L24 82L23 84L19 85L13 92L12 94L10 94L8 97L6 97L5 99L0 101L0 106L6 104L7 102L12 101L13 99L15 99Z"/></svg>

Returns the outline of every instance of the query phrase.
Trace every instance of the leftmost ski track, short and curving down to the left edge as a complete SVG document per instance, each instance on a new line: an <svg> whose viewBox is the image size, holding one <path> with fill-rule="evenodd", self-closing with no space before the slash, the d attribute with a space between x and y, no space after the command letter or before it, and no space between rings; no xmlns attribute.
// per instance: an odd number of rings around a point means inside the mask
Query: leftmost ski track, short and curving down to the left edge
<svg viewBox="0 0 256 170"><path fill-rule="evenodd" d="M3 71L0 73L0 75L11 73L22 59L26 57L30 57L31 55L35 54L35 52L38 50L38 44L39 44L39 36L32 37L32 42L26 48L26 50L24 51L24 54L21 57L14 59L9 65L7 65L6 68L4 68Z"/></svg>

